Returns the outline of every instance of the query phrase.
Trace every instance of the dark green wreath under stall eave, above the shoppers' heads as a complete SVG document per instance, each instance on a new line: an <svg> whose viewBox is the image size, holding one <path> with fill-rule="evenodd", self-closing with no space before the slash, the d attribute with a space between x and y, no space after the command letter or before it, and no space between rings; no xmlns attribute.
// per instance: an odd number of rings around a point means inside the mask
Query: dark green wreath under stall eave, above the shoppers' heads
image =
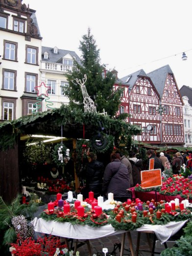
<svg viewBox="0 0 192 256"><path fill-rule="evenodd" d="M91 144L96 152L104 153L112 145L112 140L109 135L98 133L92 137Z"/></svg>

